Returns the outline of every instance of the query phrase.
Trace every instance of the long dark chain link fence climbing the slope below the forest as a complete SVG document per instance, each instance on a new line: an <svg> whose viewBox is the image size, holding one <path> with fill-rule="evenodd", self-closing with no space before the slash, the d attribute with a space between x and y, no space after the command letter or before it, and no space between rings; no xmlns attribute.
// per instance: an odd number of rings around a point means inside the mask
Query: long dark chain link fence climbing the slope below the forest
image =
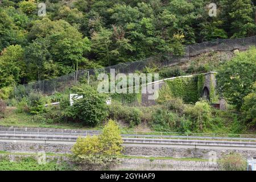
<svg viewBox="0 0 256 182"><path fill-rule="evenodd" d="M42 94L53 94L60 92L65 88L76 84L82 78L89 81L91 76L96 76L98 73L110 73L110 69L115 69L115 73L135 73L143 71L145 67L156 65L161 68L171 66L181 62L190 60L191 57L200 55L209 51L233 51L234 49L246 50L250 46L256 46L256 36L240 39L216 39L209 42L197 43L184 48L184 55L174 56L171 53L155 55L147 59L122 63L105 68L80 70L77 73L70 73L51 80L42 80L30 82L25 85L16 86L15 90L29 94L30 92L40 92Z"/></svg>

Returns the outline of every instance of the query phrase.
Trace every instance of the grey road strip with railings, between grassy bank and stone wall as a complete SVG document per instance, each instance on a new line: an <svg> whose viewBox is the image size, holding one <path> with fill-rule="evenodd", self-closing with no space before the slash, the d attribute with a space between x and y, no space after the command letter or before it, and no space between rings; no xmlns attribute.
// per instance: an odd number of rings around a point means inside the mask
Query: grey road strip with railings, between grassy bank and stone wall
<svg viewBox="0 0 256 182"><path fill-rule="evenodd" d="M19 129L23 130L23 129ZM26 129L27 130L27 129ZM68 130L68 131L11 131L0 128L1 142L59 143L73 144L77 137L98 135L99 130ZM253 135L252 135L253 136ZM254 137L254 136L253 136ZM256 150L255 138L228 137L193 137L178 135L136 135L122 134L124 145L162 146L181 148L225 148L234 150Z"/></svg>

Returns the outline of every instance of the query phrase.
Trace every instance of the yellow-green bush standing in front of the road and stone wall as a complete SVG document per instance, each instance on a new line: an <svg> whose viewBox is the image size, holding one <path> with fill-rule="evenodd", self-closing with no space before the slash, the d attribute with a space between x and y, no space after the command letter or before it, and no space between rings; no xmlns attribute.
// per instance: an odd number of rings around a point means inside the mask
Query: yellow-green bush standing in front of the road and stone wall
<svg viewBox="0 0 256 182"><path fill-rule="evenodd" d="M123 143L120 130L113 120L106 123L102 134L78 138L72 147L75 162L86 164L89 169L104 168L117 163L115 156L121 155Z"/></svg>

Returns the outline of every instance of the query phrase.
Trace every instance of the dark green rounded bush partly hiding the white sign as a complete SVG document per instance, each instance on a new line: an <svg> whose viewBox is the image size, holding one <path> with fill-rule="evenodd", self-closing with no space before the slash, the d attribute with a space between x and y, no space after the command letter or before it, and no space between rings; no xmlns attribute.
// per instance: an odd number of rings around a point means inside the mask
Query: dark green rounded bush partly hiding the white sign
<svg viewBox="0 0 256 182"><path fill-rule="evenodd" d="M73 90L76 90L75 93L80 94L82 98L75 100L74 104L65 110L65 117L87 126L96 126L104 122L108 116L106 95L99 94L89 85L74 87Z"/></svg>

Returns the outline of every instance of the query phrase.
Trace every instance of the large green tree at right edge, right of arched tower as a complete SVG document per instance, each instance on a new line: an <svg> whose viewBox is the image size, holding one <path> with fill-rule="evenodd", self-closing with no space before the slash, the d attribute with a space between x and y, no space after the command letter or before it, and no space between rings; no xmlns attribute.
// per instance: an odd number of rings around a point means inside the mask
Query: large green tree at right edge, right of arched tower
<svg viewBox="0 0 256 182"><path fill-rule="evenodd" d="M218 71L218 91L226 100L240 109L243 98L253 92L256 81L256 48L237 53Z"/></svg>

